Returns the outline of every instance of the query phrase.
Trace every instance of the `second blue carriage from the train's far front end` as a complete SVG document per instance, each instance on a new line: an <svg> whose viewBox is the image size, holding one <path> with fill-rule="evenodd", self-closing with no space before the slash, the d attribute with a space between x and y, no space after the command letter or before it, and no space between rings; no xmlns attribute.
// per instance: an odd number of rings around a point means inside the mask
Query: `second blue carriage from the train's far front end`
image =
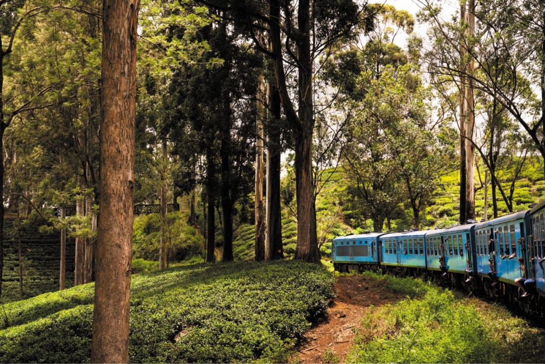
<svg viewBox="0 0 545 364"><path fill-rule="evenodd" d="M380 237L382 264L426 268L425 231L389 233Z"/></svg>

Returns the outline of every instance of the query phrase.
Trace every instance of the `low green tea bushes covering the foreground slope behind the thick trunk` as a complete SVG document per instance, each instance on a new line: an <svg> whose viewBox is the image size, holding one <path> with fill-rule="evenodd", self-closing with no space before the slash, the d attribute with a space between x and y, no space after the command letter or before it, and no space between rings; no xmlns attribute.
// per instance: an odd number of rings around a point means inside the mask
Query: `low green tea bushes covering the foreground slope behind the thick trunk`
<svg viewBox="0 0 545 364"><path fill-rule="evenodd" d="M282 261L133 276L130 362L286 362L325 313L333 277ZM89 362L93 284L0 307L0 362Z"/></svg>

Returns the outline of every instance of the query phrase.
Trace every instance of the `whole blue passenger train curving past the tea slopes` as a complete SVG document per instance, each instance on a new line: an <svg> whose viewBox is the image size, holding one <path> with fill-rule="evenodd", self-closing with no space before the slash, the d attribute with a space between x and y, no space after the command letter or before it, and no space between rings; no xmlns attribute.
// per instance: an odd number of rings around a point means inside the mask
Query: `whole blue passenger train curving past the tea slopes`
<svg viewBox="0 0 545 364"><path fill-rule="evenodd" d="M381 269L483 290L545 317L545 201L446 229L340 236L331 261L338 271Z"/></svg>

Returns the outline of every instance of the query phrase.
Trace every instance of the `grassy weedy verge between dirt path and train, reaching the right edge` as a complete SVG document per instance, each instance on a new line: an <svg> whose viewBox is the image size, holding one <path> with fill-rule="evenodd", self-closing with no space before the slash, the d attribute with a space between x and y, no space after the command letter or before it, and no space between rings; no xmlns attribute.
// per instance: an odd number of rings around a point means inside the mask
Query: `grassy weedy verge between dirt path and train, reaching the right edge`
<svg viewBox="0 0 545 364"><path fill-rule="evenodd" d="M545 331L434 284L366 273L407 299L367 311L348 362L540 362Z"/></svg>

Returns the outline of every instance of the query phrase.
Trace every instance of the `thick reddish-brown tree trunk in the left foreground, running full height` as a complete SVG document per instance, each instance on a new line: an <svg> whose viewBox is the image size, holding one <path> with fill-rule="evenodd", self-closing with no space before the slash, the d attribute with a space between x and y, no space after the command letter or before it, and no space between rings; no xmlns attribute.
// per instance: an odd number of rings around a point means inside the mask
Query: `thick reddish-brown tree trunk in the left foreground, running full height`
<svg viewBox="0 0 545 364"><path fill-rule="evenodd" d="M104 0L93 363L129 361L138 0Z"/></svg>

